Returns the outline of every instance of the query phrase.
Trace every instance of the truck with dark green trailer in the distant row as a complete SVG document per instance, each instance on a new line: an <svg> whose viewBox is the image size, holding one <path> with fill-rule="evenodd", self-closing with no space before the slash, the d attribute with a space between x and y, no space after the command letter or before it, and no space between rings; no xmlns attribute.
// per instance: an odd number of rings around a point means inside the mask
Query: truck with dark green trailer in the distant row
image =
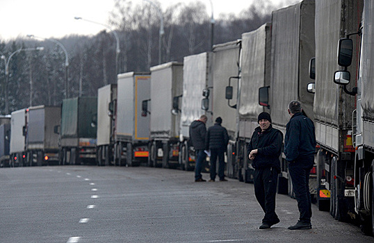
<svg viewBox="0 0 374 243"><path fill-rule="evenodd" d="M60 129L56 126L55 132L60 133L62 165L95 164L97 97L63 99Z"/></svg>

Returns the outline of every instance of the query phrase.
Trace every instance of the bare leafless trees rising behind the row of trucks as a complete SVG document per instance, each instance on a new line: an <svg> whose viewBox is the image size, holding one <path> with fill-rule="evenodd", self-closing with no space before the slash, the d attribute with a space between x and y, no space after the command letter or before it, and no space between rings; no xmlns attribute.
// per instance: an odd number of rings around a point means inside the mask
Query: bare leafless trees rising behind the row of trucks
<svg viewBox="0 0 374 243"><path fill-rule="evenodd" d="M269 0L255 1L238 15L215 17L214 44L240 39L242 33L270 22L271 12L277 8ZM160 18L156 8L116 0L108 23L120 40L118 73L147 72L158 65ZM202 1L175 3L163 11L163 23L162 63L182 62L184 56L211 50L211 16ZM20 48L44 47L43 51L13 55L8 78L6 62L0 62L0 115L29 106L58 106L65 97L96 96L99 87L116 83L116 40L111 31L90 37L68 35L58 42L67 50L68 66L63 49L49 40L0 40L3 60Z"/></svg>

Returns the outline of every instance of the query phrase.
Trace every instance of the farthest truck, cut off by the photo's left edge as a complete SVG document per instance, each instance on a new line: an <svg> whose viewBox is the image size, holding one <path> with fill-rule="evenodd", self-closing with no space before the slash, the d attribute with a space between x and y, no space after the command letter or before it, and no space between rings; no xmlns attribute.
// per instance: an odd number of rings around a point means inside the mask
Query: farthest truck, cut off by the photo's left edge
<svg viewBox="0 0 374 243"><path fill-rule="evenodd" d="M0 116L0 167L10 166L10 115Z"/></svg>

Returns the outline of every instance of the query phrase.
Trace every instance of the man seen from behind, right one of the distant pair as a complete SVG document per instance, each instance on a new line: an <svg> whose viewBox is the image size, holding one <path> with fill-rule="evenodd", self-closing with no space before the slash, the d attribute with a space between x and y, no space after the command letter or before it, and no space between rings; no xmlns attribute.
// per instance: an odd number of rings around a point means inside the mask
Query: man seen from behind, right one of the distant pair
<svg viewBox="0 0 374 243"><path fill-rule="evenodd" d="M211 151L211 179L216 180L216 162L218 157L218 177L220 181L227 181L225 179L225 151L229 143L229 135L226 128L221 126L222 118L217 117L214 126L211 126L206 133L206 150Z"/></svg>

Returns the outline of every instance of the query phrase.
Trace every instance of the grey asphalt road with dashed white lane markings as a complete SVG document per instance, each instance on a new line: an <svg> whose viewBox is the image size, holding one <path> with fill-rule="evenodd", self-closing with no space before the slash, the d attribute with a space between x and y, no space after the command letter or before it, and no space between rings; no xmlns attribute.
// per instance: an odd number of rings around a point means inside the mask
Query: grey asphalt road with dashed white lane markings
<svg viewBox="0 0 374 243"><path fill-rule="evenodd" d="M0 242L374 242L316 206L313 229L289 231L298 210L285 195L281 222L259 230L252 184L193 177L147 167L0 169Z"/></svg>

